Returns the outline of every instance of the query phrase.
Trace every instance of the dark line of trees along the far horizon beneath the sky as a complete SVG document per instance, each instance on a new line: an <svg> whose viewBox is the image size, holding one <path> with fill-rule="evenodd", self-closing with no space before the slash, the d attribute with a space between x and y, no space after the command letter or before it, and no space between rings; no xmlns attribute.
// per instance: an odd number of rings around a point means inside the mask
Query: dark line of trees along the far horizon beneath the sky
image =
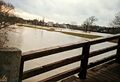
<svg viewBox="0 0 120 82"><path fill-rule="evenodd" d="M98 26L95 24L96 21L98 21L98 19L95 16L91 16L88 17L80 26L71 25L71 24L53 23L53 27L83 30L84 32L101 32L101 33L111 33L111 34L120 33L120 13L117 13L115 15L114 19L109 24L110 27ZM24 23L49 27L49 25L44 20L40 20L40 21L37 19L25 20Z"/></svg>

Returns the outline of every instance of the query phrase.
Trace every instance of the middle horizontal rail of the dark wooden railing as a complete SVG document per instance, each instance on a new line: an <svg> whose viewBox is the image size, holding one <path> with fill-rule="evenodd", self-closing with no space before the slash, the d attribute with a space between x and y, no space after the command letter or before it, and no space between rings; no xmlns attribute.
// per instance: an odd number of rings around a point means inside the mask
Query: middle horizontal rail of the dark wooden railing
<svg viewBox="0 0 120 82"><path fill-rule="evenodd" d="M91 52L89 57L93 57L93 56L96 56L96 55L99 55L99 54L102 54L102 53L105 53L105 52L108 52L108 51L111 51L111 50L114 50L114 49L117 49L117 45L111 46L109 48L101 49L101 50L98 50L98 51L93 51L93 52ZM67 59L60 60L60 61L48 64L48 65L44 65L44 66L41 66L41 67L37 67L37 68L31 69L31 70L25 71L23 73L23 79L26 79L26 78L29 78L29 77L32 77L32 76L50 71L50 70L53 70L53 69L61 67L61 66L68 65L70 63L80 61L80 59L81 59L81 55L71 57L71 58L67 58Z"/></svg>

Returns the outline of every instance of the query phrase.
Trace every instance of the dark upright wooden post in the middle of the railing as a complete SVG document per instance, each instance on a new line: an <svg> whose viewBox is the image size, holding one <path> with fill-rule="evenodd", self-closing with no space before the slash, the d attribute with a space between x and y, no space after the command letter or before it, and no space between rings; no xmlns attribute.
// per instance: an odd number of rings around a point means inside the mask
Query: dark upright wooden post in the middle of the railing
<svg viewBox="0 0 120 82"><path fill-rule="evenodd" d="M82 49L80 73L78 74L80 79L86 79L89 50L90 50L90 45L85 44Z"/></svg>

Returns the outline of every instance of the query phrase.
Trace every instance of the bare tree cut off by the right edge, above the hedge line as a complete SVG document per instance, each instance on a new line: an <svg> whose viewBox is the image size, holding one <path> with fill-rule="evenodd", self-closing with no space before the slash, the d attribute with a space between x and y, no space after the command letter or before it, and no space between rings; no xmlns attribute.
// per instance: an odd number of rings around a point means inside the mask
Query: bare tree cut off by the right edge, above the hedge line
<svg viewBox="0 0 120 82"><path fill-rule="evenodd" d="M112 20L112 22L110 23L110 26L116 28L116 27L120 27L120 12L118 12L114 19Z"/></svg>

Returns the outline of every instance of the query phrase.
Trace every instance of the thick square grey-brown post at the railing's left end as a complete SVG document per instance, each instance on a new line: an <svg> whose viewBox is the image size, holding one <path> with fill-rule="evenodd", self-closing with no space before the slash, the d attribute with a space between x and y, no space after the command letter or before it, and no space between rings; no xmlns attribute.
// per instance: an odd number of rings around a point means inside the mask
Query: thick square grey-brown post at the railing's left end
<svg viewBox="0 0 120 82"><path fill-rule="evenodd" d="M19 82L21 51L0 48L0 82Z"/></svg>

